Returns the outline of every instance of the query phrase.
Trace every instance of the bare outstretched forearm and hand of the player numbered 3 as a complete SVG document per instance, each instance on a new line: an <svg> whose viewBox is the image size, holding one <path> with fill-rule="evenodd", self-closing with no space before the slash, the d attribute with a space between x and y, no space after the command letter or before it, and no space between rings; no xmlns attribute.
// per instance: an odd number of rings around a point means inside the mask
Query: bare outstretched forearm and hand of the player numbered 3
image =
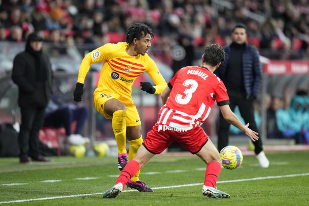
<svg viewBox="0 0 309 206"><path fill-rule="evenodd" d="M228 123L242 130L252 141L258 140L258 132L249 129L249 123L247 125L243 125L238 117L232 112L229 104L220 106L220 111Z"/></svg>

